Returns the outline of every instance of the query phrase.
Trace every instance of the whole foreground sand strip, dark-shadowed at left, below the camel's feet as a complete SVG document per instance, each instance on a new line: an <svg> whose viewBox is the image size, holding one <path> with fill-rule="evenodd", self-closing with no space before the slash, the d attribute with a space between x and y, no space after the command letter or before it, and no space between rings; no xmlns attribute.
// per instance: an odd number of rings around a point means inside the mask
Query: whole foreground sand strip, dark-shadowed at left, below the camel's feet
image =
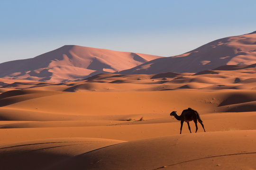
<svg viewBox="0 0 256 170"><path fill-rule="evenodd" d="M1 167L9 170L17 167L27 170L249 170L256 168L255 142L255 130L163 136L130 142L47 139L0 145L0 157L4 158L0 162ZM13 160L17 160L16 164L11 163Z"/></svg>

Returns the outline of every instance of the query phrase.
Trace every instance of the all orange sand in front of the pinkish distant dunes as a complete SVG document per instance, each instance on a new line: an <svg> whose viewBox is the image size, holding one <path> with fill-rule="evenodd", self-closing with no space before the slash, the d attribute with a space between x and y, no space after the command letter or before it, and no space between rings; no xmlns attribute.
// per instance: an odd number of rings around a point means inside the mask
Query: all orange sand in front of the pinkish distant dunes
<svg viewBox="0 0 256 170"><path fill-rule="evenodd" d="M1 169L255 170L255 68L225 69L0 79ZM179 135L170 112L188 107L206 132L191 121Z"/></svg>

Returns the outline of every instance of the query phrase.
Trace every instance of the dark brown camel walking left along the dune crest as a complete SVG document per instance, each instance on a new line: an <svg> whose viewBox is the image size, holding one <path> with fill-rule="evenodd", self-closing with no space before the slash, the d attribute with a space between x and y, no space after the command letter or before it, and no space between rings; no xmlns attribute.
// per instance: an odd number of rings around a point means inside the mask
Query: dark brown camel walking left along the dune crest
<svg viewBox="0 0 256 170"><path fill-rule="evenodd" d="M203 130L204 130L202 120L201 120L201 118L200 118L200 116L199 116L199 114L196 110L192 110L191 108L188 108L186 110L183 110L182 114L180 116L177 115L176 111L173 111L173 112L171 112L170 116L174 116L177 120L181 121L181 131L182 131L183 122L185 121L185 122L187 122L188 127L189 127L189 131L191 133L189 122L192 121L192 120L195 122L196 132L197 132L197 129L198 129L197 120L202 125ZM204 132L205 132L205 130L204 130ZM181 134L181 132L180 132L180 134Z"/></svg>

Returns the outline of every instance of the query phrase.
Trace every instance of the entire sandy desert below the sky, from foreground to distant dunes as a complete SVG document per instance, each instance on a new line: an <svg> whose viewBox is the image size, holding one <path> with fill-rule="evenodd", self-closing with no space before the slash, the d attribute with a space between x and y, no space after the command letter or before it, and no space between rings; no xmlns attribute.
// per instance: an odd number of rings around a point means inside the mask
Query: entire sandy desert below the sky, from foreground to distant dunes
<svg viewBox="0 0 256 170"><path fill-rule="evenodd" d="M256 170L255 42L169 58L64 46L2 63L0 169ZM179 134L170 113L187 108L206 132L191 121Z"/></svg>

